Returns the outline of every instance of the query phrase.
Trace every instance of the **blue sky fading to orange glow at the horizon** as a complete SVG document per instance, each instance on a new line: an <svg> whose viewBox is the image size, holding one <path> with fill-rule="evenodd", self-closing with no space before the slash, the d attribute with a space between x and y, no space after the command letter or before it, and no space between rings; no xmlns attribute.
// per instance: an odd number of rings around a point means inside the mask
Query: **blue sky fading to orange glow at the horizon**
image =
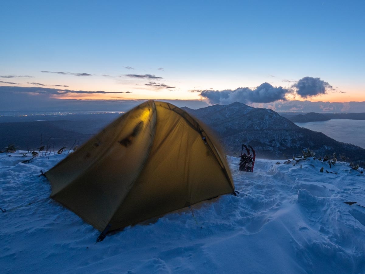
<svg viewBox="0 0 365 274"><path fill-rule="evenodd" d="M365 101L364 14L363 0L2 1L0 92Z"/></svg>

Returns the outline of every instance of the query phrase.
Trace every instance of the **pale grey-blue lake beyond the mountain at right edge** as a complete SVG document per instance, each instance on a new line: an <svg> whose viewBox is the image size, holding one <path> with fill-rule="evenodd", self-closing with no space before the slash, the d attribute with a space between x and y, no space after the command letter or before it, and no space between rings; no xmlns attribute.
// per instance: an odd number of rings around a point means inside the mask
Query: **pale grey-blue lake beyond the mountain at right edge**
<svg viewBox="0 0 365 274"><path fill-rule="evenodd" d="M365 120L331 119L330 121L295 124L302 128L322 132L337 141L365 148Z"/></svg>

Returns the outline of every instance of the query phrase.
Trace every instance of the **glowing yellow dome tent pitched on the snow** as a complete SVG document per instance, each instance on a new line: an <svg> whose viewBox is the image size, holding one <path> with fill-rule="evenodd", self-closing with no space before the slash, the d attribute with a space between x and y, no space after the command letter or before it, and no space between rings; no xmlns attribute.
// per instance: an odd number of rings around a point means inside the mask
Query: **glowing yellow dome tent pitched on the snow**
<svg viewBox="0 0 365 274"><path fill-rule="evenodd" d="M212 139L180 108L147 101L47 171L50 197L112 231L233 193L228 164Z"/></svg>

